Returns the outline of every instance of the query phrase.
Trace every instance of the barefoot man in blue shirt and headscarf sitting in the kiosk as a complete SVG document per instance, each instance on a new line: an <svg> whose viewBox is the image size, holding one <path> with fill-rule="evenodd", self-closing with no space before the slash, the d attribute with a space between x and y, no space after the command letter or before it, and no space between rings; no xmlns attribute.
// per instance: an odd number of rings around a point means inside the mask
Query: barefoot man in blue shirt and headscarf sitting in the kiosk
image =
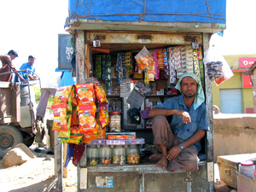
<svg viewBox="0 0 256 192"><path fill-rule="evenodd" d="M158 160L156 166L169 172L178 168L196 172L201 138L209 127L205 96L195 74L184 74L175 88L183 95L169 98L149 112L154 117L154 146L161 152L151 155L149 160ZM172 115L170 124L166 119L169 115Z"/></svg>

